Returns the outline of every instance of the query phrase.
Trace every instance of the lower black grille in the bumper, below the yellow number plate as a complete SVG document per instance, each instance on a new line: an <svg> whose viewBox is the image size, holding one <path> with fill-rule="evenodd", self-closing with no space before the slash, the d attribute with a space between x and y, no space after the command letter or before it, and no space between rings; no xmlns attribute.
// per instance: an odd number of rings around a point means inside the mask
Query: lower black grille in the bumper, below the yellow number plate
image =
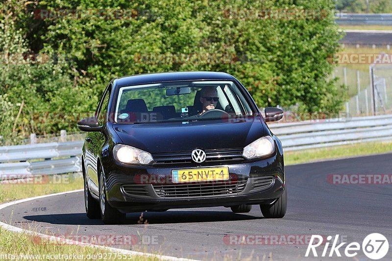
<svg viewBox="0 0 392 261"><path fill-rule="evenodd" d="M153 185L161 197L203 197L236 194L245 189L246 179L214 183L187 183L173 185Z"/></svg>

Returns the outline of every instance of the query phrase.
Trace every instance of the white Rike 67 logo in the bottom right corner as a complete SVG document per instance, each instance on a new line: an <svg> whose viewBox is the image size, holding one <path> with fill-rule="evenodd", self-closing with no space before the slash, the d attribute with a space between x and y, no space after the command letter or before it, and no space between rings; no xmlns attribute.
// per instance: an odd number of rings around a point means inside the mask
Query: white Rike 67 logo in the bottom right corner
<svg viewBox="0 0 392 261"><path fill-rule="evenodd" d="M328 257L333 257L334 254L336 254L336 256L338 257L342 257L339 250L343 251L343 245L345 245L346 242L342 242L339 245L337 245L339 240L339 235L336 235L333 241L331 239L332 236L327 237L327 242L325 242L321 257L326 257L327 252L329 250L328 249L329 244L331 242L332 242L332 246L330 247ZM310 238L308 249L306 250L305 257L309 256L310 251L312 251L314 257L318 257L316 248L319 247L322 243L323 243L322 236L312 235L312 237ZM361 245L358 242L352 242L345 246L344 255L349 258L355 257L358 254L359 250L361 250ZM387 255L388 250L389 250L389 244L387 238L379 233L369 234L368 236L365 237L364 241L362 242L362 251L369 259L372 260L382 259L383 257L385 257L385 255Z"/></svg>

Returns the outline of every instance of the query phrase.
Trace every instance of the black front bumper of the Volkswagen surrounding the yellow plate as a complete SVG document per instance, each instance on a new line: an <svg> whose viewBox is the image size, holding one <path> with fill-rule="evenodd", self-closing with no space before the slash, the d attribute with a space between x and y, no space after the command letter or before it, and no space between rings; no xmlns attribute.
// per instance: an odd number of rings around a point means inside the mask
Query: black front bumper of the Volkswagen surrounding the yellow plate
<svg viewBox="0 0 392 261"><path fill-rule="evenodd" d="M237 164L203 164L203 166L124 166L113 162L106 167L107 199L112 207L123 213L139 211L159 211L172 208L196 208L236 206L241 204L271 204L285 190L283 156L275 155L269 159L243 161ZM162 191L173 191L178 184L171 182L173 169L227 166L230 172L230 189L219 190L217 194L203 195L203 189L195 194L195 186L189 195L180 196ZM111 169L111 171L107 171ZM144 178L149 177L149 178ZM150 178L157 177L157 178ZM262 181L263 186L260 186ZM259 185L258 185L259 184ZM205 185L205 184L203 184ZM202 185L202 186L203 186ZM218 184L219 185L219 184ZM197 186L197 185L196 185ZM220 187L220 186L218 186ZM223 186L221 186L223 187ZM166 188L171 188L166 190ZM205 188L205 187L203 187ZM226 187L224 187L226 188ZM237 188L237 190L231 188ZM209 190L213 190L209 187ZM185 190L184 190L185 191Z"/></svg>

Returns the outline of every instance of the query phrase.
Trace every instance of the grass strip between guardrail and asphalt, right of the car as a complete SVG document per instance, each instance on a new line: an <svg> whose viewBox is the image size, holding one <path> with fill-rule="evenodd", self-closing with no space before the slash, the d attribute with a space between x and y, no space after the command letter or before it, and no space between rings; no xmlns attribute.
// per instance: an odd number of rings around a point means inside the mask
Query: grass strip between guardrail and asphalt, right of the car
<svg viewBox="0 0 392 261"><path fill-rule="evenodd" d="M392 142L366 142L284 153L285 165L392 152Z"/></svg>

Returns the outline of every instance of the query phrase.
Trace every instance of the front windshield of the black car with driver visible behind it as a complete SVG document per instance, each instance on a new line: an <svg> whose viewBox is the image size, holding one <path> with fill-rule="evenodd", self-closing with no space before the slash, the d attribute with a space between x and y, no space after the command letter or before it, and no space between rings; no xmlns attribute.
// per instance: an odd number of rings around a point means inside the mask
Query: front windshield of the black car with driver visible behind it
<svg viewBox="0 0 392 261"><path fill-rule="evenodd" d="M122 87L115 122L211 120L254 115L232 81L183 81Z"/></svg>

